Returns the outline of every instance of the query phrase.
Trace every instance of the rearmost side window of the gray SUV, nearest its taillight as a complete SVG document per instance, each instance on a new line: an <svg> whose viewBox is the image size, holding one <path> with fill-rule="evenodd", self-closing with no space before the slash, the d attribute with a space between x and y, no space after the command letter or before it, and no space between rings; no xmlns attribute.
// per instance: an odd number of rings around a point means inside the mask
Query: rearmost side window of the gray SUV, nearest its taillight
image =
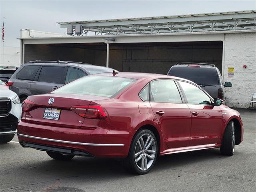
<svg viewBox="0 0 256 192"><path fill-rule="evenodd" d="M40 68L39 65L28 65L20 69L16 75L16 79L34 80L36 72Z"/></svg>

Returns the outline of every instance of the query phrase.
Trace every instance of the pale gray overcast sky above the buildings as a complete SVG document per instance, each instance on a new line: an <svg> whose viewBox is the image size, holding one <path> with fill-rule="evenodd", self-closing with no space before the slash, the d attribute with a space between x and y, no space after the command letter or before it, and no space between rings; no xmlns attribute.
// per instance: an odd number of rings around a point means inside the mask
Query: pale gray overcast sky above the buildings
<svg viewBox="0 0 256 192"><path fill-rule="evenodd" d="M256 0L0 0L4 46L20 46L20 29L66 33L56 22L255 10ZM2 36L2 34L1 34ZM1 38L2 39L2 38ZM1 40L1 44L2 40Z"/></svg>

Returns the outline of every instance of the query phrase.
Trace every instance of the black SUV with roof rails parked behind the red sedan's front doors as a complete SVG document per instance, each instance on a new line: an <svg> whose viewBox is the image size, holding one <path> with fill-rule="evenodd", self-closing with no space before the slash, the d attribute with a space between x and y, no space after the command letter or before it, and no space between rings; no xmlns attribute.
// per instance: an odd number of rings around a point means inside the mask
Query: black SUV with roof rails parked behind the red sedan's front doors
<svg viewBox="0 0 256 192"><path fill-rule="evenodd" d="M219 69L214 64L206 63L177 63L172 66L167 75L181 77L195 82L212 98L220 98L226 102L225 87L231 87L230 82L222 84Z"/></svg>

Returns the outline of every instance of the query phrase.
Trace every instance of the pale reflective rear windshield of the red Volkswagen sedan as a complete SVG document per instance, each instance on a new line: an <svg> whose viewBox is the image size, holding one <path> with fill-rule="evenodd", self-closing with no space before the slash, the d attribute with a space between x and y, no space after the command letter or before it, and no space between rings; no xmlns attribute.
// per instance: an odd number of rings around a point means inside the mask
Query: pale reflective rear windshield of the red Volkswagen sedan
<svg viewBox="0 0 256 192"><path fill-rule="evenodd" d="M136 79L114 76L85 76L58 88L52 93L74 93L114 97L135 81Z"/></svg>

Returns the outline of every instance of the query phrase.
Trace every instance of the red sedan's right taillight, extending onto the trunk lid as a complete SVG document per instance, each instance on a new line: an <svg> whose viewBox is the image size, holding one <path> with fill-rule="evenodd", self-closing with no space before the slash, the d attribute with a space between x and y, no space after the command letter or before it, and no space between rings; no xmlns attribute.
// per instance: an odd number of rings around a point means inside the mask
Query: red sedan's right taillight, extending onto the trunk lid
<svg viewBox="0 0 256 192"><path fill-rule="evenodd" d="M105 119L108 112L99 104L72 106L70 110L84 118Z"/></svg>

